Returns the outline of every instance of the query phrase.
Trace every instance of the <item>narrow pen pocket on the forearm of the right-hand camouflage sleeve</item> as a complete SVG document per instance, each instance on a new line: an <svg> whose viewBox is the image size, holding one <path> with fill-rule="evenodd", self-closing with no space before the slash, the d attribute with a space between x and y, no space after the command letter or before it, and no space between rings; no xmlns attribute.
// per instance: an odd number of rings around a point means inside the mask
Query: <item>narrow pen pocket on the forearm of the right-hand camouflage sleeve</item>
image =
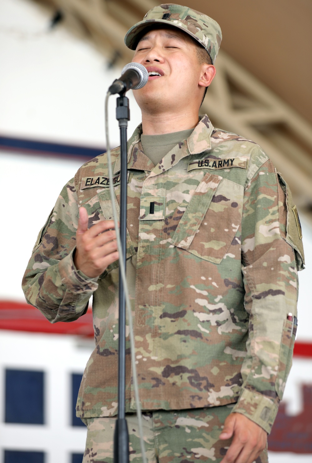
<svg viewBox="0 0 312 463"><path fill-rule="evenodd" d="M292 366L296 331L297 325L293 326L292 320L284 320L278 370L275 381L275 390L280 400L283 397L286 380Z"/></svg>

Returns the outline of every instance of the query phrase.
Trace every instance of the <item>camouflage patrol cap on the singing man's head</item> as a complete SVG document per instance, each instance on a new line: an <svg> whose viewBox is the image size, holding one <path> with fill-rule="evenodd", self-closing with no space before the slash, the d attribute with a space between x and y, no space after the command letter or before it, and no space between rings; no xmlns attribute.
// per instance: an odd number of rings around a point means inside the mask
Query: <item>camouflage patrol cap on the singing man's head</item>
<svg viewBox="0 0 312 463"><path fill-rule="evenodd" d="M128 30L125 36L127 47L135 50L145 30L151 29L153 24L170 25L186 32L208 51L214 63L222 39L220 26L214 19L192 8L175 3L155 6L146 13L143 21Z"/></svg>

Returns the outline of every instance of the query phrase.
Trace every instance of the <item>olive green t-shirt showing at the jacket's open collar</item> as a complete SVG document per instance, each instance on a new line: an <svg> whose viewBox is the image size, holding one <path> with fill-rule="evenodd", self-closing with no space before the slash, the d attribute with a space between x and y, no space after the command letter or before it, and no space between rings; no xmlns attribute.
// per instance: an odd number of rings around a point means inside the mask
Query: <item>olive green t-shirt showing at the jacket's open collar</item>
<svg viewBox="0 0 312 463"><path fill-rule="evenodd" d="M187 129L161 135L142 134L141 144L143 152L156 166L165 154L169 153L177 143L189 138L193 130L194 129Z"/></svg>

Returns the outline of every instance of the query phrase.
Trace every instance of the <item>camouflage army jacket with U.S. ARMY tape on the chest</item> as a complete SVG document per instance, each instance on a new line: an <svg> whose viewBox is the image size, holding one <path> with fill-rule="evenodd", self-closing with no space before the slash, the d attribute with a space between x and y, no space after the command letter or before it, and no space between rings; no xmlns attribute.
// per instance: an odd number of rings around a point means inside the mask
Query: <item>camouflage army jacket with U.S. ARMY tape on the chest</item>
<svg viewBox="0 0 312 463"><path fill-rule="evenodd" d="M270 431L291 365L300 222L291 194L253 142L203 116L156 166L141 126L128 141L127 278L142 408L237 402ZM116 204L119 149L112 150ZM24 275L27 300L54 323L85 313L95 349L77 402L81 417L117 407L118 262L97 279L73 264L79 206L89 226L112 217L107 158L84 164L61 191ZM127 350L127 410L135 410Z"/></svg>

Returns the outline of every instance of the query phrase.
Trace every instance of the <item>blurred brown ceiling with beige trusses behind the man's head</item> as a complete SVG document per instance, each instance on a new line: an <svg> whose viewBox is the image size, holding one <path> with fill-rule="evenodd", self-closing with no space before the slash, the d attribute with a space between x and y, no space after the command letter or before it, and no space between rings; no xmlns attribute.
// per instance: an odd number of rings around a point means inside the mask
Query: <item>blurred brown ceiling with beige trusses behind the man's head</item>
<svg viewBox="0 0 312 463"><path fill-rule="evenodd" d="M131 62L123 43L154 0L35 0L92 41L109 66ZM185 2L186 3L186 2ZM217 75L201 108L212 122L259 143L312 219L311 0L192 0L221 26Z"/></svg>

